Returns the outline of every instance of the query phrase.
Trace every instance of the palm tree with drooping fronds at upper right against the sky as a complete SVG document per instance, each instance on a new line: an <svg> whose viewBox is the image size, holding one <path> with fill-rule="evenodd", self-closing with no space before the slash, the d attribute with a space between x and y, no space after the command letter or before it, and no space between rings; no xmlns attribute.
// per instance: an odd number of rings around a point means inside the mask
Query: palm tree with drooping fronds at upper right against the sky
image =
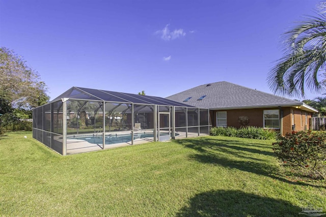
<svg viewBox="0 0 326 217"><path fill-rule="evenodd" d="M319 70L326 70L326 2L317 5L316 16L305 16L284 33L284 55L268 74L275 94L303 97L305 87L324 92Z"/></svg>

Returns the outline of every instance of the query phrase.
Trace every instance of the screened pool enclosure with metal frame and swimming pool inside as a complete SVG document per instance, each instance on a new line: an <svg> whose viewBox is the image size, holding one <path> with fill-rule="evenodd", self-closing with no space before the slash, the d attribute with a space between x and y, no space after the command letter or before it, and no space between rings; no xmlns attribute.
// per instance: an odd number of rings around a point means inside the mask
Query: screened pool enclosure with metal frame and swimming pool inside
<svg viewBox="0 0 326 217"><path fill-rule="evenodd" d="M208 109L82 87L33 110L33 138L62 155L208 135L209 127Z"/></svg>

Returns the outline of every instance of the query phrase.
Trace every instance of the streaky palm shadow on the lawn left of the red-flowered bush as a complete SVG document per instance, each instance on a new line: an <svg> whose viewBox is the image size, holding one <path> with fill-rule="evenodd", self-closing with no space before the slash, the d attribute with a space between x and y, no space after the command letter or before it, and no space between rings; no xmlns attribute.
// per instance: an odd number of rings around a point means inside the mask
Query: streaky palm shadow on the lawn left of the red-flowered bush
<svg viewBox="0 0 326 217"><path fill-rule="evenodd" d="M255 148L251 148L252 144L246 144L244 142L236 140L216 140L211 139L209 137L201 137L197 139L182 139L176 140L176 142L187 148L192 148L196 150L197 153L190 154L189 158L201 163L216 164L231 169L234 168L241 171L255 173L258 175L264 175L291 184L309 185L312 187L326 188L325 185L288 180L284 176L282 176L282 173L280 172L280 167L278 165L273 165L268 162L268 160L246 156L246 153L251 152L273 157L275 155L271 148L271 151L260 151ZM241 147L243 145L246 145L247 147ZM228 156L236 157L236 159L231 159Z"/></svg>

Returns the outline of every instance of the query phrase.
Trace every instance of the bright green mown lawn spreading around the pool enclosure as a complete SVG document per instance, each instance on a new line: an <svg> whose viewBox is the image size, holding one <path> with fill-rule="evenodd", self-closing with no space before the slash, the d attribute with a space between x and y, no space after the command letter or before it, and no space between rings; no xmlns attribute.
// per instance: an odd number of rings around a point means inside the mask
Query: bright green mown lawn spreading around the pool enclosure
<svg viewBox="0 0 326 217"><path fill-rule="evenodd" d="M24 136L27 136L27 139ZM62 157L0 137L2 216L298 216L326 185L282 175L270 140L207 136Z"/></svg>

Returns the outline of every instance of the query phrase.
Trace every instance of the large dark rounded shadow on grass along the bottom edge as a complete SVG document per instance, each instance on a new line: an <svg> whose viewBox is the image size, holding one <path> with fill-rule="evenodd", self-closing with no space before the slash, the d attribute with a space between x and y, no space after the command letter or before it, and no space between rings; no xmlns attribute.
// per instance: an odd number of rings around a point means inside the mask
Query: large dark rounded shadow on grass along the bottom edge
<svg viewBox="0 0 326 217"><path fill-rule="evenodd" d="M298 216L302 210L287 201L241 191L209 191L189 200L176 216Z"/></svg>

